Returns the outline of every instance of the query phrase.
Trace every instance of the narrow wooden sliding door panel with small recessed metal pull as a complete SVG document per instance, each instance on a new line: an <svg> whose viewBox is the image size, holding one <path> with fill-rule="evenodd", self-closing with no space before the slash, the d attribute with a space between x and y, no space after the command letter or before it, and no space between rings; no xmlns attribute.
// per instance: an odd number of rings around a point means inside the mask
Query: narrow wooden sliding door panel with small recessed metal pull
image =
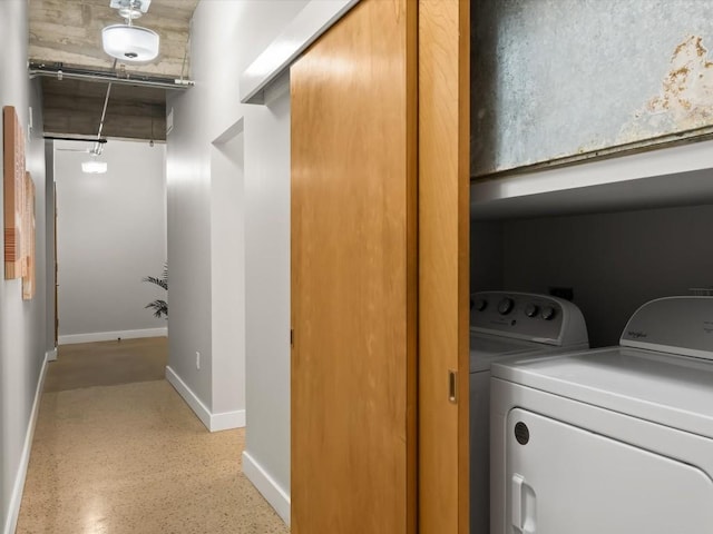
<svg viewBox="0 0 713 534"><path fill-rule="evenodd" d="M469 532L469 7L419 0L421 534Z"/></svg>

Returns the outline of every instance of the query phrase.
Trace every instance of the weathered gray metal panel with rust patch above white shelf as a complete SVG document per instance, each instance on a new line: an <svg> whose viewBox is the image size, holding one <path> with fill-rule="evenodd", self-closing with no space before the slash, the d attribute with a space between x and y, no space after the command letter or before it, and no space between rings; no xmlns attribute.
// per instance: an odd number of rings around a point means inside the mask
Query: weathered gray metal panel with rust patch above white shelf
<svg viewBox="0 0 713 534"><path fill-rule="evenodd" d="M713 1L472 0L471 174L713 132Z"/></svg>

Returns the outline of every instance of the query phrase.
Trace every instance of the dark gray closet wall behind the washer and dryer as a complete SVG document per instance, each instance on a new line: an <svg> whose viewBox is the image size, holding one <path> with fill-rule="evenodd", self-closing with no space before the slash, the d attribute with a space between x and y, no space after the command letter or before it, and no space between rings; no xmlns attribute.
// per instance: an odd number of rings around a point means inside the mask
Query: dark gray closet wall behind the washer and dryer
<svg viewBox="0 0 713 534"><path fill-rule="evenodd" d="M547 294L554 286L572 287L593 346L616 345L628 317L647 300L713 287L713 206L490 225L490 238L501 236L500 288ZM473 243L473 265L492 250L488 239ZM477 279L498 275L485 271Z"/></svg>

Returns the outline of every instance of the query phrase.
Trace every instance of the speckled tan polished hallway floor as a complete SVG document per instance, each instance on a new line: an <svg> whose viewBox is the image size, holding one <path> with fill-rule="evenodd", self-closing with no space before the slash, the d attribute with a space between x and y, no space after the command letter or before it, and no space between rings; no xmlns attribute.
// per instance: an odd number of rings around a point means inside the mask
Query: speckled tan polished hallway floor
<svg viewBox="0 0 713 534"><path fill-rule="evenodd" d="M65 345L50 363L18 534L287 533L163 378L165 338Z"/></svg>

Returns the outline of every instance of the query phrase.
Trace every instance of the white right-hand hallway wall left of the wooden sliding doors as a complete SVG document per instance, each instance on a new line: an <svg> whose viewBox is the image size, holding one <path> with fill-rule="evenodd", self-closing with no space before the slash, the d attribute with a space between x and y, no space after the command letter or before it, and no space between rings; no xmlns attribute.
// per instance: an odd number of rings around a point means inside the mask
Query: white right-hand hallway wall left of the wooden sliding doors
<svg viewBox="0 0 713 534"><path fill-rule="evenodd" d="M305 4L306 0L202 1L192 32L196 87L168 102L174 110L174 130L167 141L170 372L185 385L184 395L197 412L240 411L240 404L222 404L228 385L212 383L211 377L235 363L235 350L225 347L245 346L244 466L285 520L290 491L289 93L283 80L282 92L273 90L267 106L241 105L238 80ZM219 145L213 141L229 134L241 119L244 210L237 200L216 201L213 191L221 186L211 174ZM212 327L222 309L213 296L229 287L226 276L241 276L240 269L231 275L213 268L221 258L221 244L234 239L240 227L240 221L221 222L224 210L237 212L245 228L244 339L237 326L221 332ZM202 353L201 369L195 365L196 350Z"/></svg>

